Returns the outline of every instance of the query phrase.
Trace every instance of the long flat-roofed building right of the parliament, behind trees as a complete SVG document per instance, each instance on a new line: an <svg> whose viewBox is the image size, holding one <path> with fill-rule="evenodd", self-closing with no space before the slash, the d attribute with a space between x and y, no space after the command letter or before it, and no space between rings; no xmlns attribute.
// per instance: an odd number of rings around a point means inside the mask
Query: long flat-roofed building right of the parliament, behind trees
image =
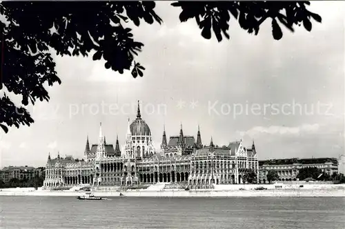
<svg viewBox="0 0 345 229"><path fill-rule="evenodd" d="M310 159L272 159L259 161L259 181L266 183L268 171L277 171L279 181L293 181L301 168L316 167L332 175L338 172L338 161L335 158L310 158Z"/></svg>

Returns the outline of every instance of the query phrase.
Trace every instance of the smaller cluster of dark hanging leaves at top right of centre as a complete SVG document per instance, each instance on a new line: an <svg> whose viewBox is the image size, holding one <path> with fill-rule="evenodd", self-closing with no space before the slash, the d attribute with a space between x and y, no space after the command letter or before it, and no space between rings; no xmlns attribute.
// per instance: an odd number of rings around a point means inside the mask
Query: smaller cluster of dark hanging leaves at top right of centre
<svg viewBox="0 0 345 229"><path fill-rule="evenodd" d="M230 17L236 19L242 29L250 34L254 32L255 35L266 19L272 19L272 33L276 40L283 37L279 23L294 32L293 27L301 26L302 23L306 30L311 31L311 19L320 23L322 21L319 14L306 9L306 5L310 5L309 1L178 1L171 5L181 8L181 22L195 19L202 37L210 39L212 29L219 42L223 36L230 38Z"/></svg>

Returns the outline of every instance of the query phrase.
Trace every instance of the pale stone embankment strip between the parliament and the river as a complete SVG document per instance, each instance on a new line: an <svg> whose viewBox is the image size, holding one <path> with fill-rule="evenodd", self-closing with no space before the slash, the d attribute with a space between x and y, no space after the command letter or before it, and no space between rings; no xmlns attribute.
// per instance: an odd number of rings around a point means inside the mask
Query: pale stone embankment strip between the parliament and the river
<svg viewBox="0 0 345 229"><path fill-rule="evenodd" d="M77 197L85 192L71 191L6 191L0 196ZM120 194L122 196L120 196ZM126 190L94 192L99 197L345 197L344 189L280 189L280 190Z"/></svg>

